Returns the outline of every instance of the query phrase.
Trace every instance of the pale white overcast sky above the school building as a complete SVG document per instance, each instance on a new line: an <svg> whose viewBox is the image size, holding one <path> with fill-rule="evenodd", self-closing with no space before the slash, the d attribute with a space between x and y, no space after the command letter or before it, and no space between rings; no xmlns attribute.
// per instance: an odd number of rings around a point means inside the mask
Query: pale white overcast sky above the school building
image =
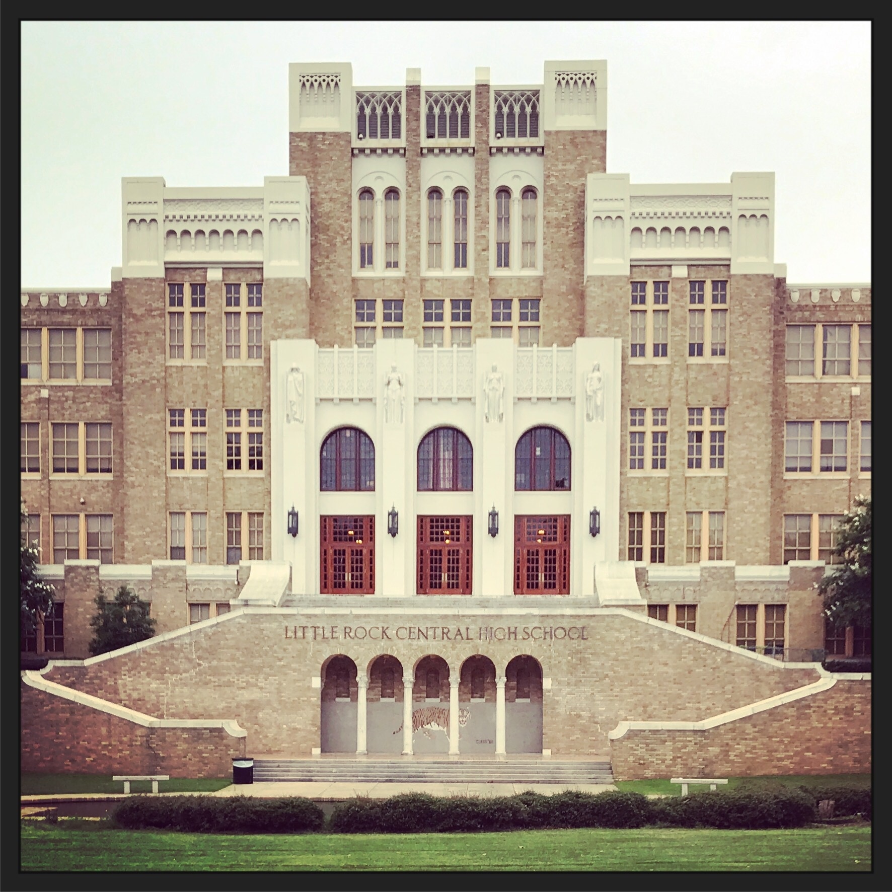
<svg viewBox="0 0 892 892"><path fill-rule="evenodd" d="M21 284L109 285L120 178L260 186L288 172L288 63L356 86L536 84L607 60L607 170L633 183L773 170L792 283L871 277L867 22L25 22ZM546 196L546 201L548 197Z"/></svg>

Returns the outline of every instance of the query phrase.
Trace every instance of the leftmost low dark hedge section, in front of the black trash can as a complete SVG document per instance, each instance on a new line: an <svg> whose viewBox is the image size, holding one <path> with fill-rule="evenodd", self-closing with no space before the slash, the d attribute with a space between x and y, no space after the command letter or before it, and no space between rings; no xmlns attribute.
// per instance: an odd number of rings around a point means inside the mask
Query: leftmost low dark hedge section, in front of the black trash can
<svg viewBox="0 0 892 892"><path fill-rule="evenodd" d="M301 797L134 796L112 819L127 830L189 833L312 833L325 827L322 809Z"/></svg>

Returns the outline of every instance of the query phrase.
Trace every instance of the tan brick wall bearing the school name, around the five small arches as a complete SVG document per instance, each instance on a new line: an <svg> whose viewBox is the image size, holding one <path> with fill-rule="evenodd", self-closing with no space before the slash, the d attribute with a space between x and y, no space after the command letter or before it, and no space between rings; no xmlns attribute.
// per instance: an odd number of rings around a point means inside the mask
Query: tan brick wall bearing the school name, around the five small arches
<svg viewBox="0 0 892 892"><path fill-rule="evenodd" d="M87 667L54 666L47 681L138 712L164 718L235 718L248 732L252 755L310 756L319 746L319 690L312 679L333 654L351 657L360 671L383 653L411 672L438 654L451 672L467 657L490 657L497 673L518 654L535 657L551 680L543 694L542 746L555 756L607 758L607 732L632 721L699 721L817 681L811 669L784 669L742 652L729 652L624 615L498 616L404 615L394 624L356 613L344 624L390 627L471 627L471 640L303 640L300 627L321 615L245 613L190 629L151 647ZM335 623L341 625L340 620ZM292 630L298 627L298 639ZM585 626L586 640L479 640L480 626ZM285 629L289 637L285 638ZM309 632L311 635L312 632ZM659 672L654 672L654 654Z"/></svg>

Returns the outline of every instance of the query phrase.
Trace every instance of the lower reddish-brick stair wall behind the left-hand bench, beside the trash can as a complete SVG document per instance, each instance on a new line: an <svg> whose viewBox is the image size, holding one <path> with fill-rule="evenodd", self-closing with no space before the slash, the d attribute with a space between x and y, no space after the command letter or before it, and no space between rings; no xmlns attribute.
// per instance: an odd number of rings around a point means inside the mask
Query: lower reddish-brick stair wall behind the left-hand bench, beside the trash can
<svg viewBox="0 0 892 892"><path fill-rule="evenodd" d="M244 737L222 728L152 728L21 682L21 771L231 776Z"/></svg>

